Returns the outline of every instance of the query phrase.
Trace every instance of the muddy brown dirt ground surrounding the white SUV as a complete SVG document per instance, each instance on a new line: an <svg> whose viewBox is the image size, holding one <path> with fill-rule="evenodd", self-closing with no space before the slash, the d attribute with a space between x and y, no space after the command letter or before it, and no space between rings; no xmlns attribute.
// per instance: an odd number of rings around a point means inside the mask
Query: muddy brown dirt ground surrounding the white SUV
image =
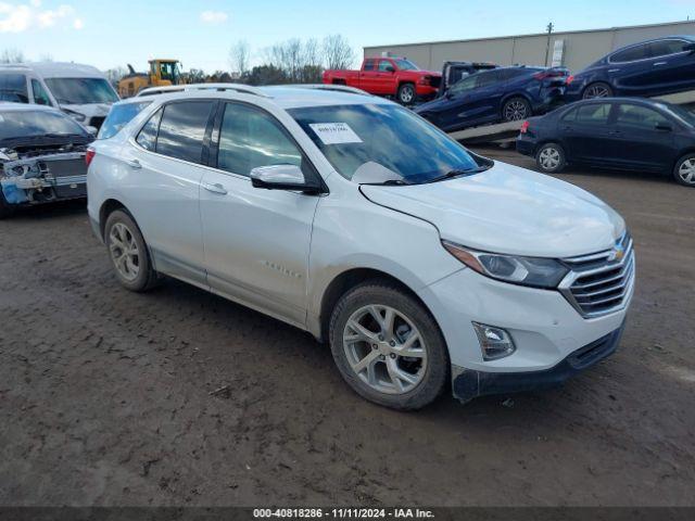
<svg viewBox="0 0 695 521"><path fill-rule="evenodd" d="M695 505L695 190L561 178L632 229L621 348L560 390L414 414L307 333L176 281L128 293L84 204L1 221L0 505Z"/></svg>

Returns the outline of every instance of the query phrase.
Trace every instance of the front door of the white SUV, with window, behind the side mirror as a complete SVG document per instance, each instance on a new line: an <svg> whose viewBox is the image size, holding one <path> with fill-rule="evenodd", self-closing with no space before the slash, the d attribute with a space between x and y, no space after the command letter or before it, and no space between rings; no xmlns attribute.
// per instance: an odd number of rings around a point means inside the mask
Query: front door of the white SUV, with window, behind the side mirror
<svg viewBox="0 0 695 521"><path fill-rule="evenodd" d="M251 185L258 166L294 164L317 175L265 111L226 103L201 189L207 281L213 291L304 326L308 254L319 198ZM217 150L215 150L217 149Z"/></svg>

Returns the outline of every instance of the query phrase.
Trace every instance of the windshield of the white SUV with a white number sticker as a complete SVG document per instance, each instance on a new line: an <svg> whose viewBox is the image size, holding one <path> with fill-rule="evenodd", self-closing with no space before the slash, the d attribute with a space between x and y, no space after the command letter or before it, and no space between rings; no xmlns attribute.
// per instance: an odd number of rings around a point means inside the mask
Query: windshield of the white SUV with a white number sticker
<svg viewBox="0 0 695 521"><path fill-rule="evenodd" d="M312 106L288 111L343 177L377 163L407 183L478 167L458 142L391 104Z"/></svg>

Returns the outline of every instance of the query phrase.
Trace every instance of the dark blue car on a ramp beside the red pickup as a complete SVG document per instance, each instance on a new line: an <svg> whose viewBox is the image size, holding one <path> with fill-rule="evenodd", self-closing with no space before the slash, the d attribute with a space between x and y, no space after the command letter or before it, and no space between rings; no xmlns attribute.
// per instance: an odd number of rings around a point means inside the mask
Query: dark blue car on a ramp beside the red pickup
<svg viewBox="0 0 695 521"><path fill-rule="evenodd" d="M470 75L437 100L415 107L420 116L452 132L489 123L541 114L561 100L566 68L500 67Z"/></svg>

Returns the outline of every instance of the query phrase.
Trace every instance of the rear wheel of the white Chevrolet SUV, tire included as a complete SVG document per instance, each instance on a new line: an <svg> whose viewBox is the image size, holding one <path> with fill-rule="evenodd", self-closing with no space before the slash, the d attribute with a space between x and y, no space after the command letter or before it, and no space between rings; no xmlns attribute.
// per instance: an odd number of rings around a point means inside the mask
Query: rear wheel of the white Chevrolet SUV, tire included
<svg viewBox="0 0 695 521"><path fill-rule="evenodd" d="M109 258L121 284L135 292L143 292L156 284L148 246L132 217L117 209L109 215L104 227L104 242Z"/></svg>

